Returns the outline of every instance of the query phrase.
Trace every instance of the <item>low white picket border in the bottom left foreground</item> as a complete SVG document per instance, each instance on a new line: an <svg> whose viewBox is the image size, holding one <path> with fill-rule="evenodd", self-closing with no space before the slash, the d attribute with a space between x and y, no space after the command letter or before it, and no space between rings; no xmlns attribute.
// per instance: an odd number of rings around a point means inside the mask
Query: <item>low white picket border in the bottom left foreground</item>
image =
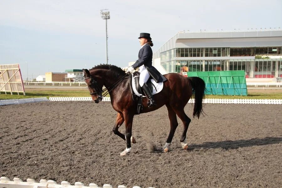
<svg viewBox="0 0 282 188"><path fill-rule="evenodd" d="M39 183L36 183L34 179L28 178L26 182L23 182L20 178L14 178L13 181L10 181L7 177L0 178L0 187L7 188L113 188L110 184L104 184L103 187L98 187L97 184L91 183L89 186L85 186L81 182L76 182L75 185L70 185L67 181L62 181L61 184L57 184L53 180L40 180ZM124 185L118 185L118 188L127 188ZM133 188L141 188L139 186L133 186ZM154 188L154 187L149 187Z"/></svg>

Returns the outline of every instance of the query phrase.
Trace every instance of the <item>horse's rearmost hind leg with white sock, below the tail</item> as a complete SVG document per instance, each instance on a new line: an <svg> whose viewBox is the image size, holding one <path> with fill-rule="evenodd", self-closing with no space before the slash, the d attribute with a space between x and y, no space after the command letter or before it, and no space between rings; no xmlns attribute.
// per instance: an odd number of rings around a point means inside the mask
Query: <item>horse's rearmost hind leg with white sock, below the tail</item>
<svg viewBox="0 0 282 188"><path fill-rule="evenodd" d="M174 111L176 112L177 116L181 119L182 123L183 123L183 133L180 137L180 144L182 146L183 149L187 150L188 149L188 144L186 143L186 133L189 127L189 124L191 122L191 119L188 118L188 116L185 114L184 109L176 109L174 108Z"/></svg>

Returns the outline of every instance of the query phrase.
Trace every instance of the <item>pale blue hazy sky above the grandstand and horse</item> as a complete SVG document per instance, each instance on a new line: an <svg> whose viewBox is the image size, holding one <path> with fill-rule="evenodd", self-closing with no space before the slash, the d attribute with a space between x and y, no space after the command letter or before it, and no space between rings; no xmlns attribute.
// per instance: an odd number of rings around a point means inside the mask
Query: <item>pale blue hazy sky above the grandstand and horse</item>
<svg viewBox="0 0 282 188"><path fill-rule="evenodd" d="M20 64L23 80L138 59L139 34L153 53L179 31L282 28L281 0L0 0L0 65Z"/></svg>

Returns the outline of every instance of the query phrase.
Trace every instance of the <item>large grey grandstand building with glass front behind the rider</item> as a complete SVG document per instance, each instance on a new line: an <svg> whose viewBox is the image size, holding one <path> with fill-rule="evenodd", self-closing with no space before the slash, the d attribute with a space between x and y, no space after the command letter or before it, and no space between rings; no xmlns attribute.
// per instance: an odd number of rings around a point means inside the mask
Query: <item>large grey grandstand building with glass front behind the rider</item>
<svg viewBox="0 0 282 188"><path fill-rule="evenodd" d="M282 77L282 30L178 32L153 55L163 74L245 70L246 78Z"/></svg>

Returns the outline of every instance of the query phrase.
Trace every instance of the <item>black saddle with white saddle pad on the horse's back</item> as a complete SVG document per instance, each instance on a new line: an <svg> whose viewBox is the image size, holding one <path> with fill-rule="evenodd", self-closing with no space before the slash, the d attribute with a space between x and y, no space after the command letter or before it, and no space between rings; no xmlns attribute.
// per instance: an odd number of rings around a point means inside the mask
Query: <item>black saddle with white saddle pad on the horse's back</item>
<svg viewBox="0 0 282 188"><path fill-rule="evenodd" d="M138 101L137 104L137 114L140 114L143 106L142 106L142 98L146 97L144 91L142 90L141 86L139 85L139 76L140 72L134 72L133 74L129 74L130 80L130 91L132 93L133 101ZM149 89L151 90L152 94L156 94L163 89L163 82L156 83L152 77L149 77L148 81L146 82Z"/></svg>

